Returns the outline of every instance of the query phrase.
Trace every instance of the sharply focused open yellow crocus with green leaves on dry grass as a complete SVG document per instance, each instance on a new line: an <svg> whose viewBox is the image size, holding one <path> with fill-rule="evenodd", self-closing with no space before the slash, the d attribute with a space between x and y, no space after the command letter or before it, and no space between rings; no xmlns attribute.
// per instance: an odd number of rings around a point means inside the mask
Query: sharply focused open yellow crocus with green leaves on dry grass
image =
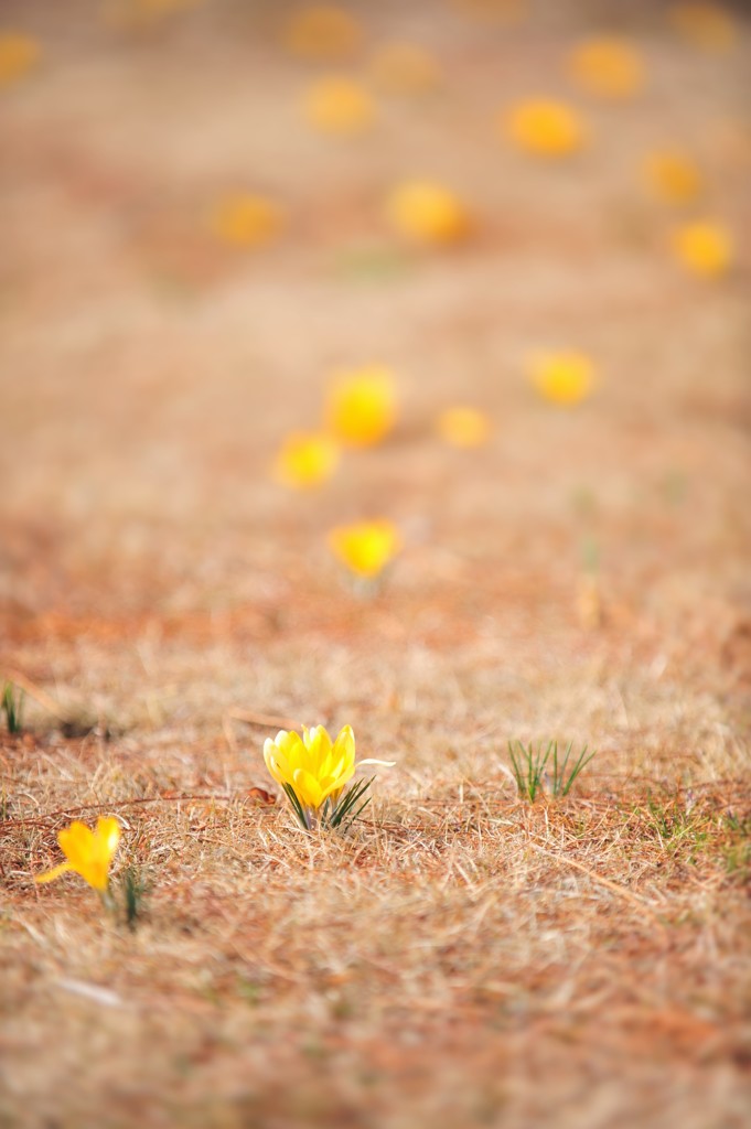
<svg viewBox="0 0 751 1129"><path fill-rule="evenodd" d="M355 734L349 725L340 730L333 743L322 725L312 729L304 726L302 737L281 729L273 739L268 737L264 742L263 759L308 830L315 826L324 808L333 825L339 822L337 809L348 806L347 797L350 795L342 796L342 791L361 764L391 767L394 763L373 759L356 761ZM358 798L366 787L356 786Z"/></svg>

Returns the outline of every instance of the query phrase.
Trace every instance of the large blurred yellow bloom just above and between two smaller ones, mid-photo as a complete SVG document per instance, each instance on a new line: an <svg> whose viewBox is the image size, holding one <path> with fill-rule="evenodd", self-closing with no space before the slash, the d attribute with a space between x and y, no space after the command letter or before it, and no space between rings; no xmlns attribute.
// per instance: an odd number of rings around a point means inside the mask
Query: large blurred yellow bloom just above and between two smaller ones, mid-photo
<svg viewBox="0 0 751 1129"><path fill-rule="evenodd" d="M350 447L381 443L396 420L396 384L391 369L372 365L343 373L332 382L325 404L326 426Z"/></svg>

